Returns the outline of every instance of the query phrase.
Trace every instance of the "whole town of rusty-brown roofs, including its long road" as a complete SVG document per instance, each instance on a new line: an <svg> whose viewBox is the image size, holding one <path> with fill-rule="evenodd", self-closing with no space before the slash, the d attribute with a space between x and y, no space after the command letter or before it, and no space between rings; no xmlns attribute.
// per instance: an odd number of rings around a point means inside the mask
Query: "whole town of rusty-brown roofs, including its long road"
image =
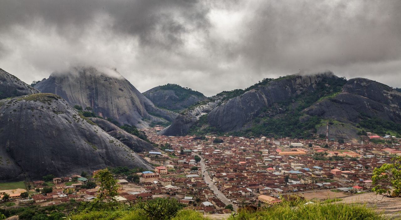
<svg viewBox="0 0 401 220"><path fill-rule="evenodd" d="M342 198L369 192L373 169L401 155L400 139L370 133L361 137L362 144L351 144L265 136L157 135L161 129L142 129L160 149L139 154L154 170L111 169L119 187L116 201L130 204L172 197L186 209L225 214L248 205L279 204L292 195L308 200ZM92 178L96 172L47 175L27 181L26 189L0 190L0 196L20 205L90 202L99 191Z"/></svg>

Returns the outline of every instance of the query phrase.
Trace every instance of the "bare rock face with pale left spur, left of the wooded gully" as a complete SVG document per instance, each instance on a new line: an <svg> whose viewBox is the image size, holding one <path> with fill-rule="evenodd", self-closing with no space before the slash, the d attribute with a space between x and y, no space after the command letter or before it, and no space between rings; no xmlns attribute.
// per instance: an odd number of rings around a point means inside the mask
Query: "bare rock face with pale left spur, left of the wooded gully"
<svg viewBox="0 0 401 220"><path fill-rule="evenodd" d="M195 108L183 111L170 126L159 134L186 135L203 114L208 114L207 123L209 125L223 132L241 130L260 113L262 108L288 100L304 92L313 92L317 84L328 78L336 79L338 77L332 72L315 75L289 75L245 90L243 94L229 100L223 100L224 96L215 96L203 101L203 104L199 104Z"/></svg>

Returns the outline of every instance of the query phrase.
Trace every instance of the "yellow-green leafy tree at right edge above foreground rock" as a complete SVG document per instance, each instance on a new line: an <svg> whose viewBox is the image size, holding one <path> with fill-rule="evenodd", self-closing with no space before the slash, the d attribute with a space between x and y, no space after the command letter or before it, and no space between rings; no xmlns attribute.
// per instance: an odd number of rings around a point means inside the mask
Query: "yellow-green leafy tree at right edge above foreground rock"
<svg viewBox="0 0 401 220"><path fill-rule="evenodd" d="M375 187L372 191L390 198L401 197L401 157L392 160L394 163L385 163L373 170L372 184Z"/></svg>

